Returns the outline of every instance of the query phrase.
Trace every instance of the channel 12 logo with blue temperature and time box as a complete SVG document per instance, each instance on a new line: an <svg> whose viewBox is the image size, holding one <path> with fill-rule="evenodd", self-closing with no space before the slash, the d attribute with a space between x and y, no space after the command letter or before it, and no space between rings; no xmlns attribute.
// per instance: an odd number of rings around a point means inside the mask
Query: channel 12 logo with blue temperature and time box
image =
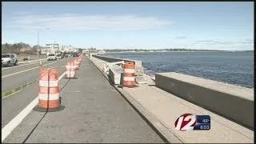
<svg viewBox="0 0 256 144"><path fill-rule="evenodd" d="M176 130L210 130L210 115L182 114L174 123Z"/></svg>

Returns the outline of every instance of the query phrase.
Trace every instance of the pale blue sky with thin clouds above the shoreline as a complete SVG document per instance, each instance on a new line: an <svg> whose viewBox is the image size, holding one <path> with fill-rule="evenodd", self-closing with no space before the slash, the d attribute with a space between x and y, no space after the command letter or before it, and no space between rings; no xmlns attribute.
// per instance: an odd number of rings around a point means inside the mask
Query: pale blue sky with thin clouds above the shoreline
<svg viewBox="0 0 256 144"><path fill-rule="evenodd" d="M42 46L254 50L254 3L2 2L2 43L38 30Z"/></svg>

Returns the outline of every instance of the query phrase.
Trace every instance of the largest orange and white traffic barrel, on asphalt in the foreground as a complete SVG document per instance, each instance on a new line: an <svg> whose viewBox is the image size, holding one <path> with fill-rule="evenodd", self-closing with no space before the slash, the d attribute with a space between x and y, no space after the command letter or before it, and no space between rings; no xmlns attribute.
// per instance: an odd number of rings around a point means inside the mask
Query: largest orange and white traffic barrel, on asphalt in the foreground
<svg viewBox="0 0 256 144"><path fill-rule="evenodd" d="M58 70L41 69L39 71L38 106L37 111L58 111L63 110L61 106L58 89Z"/></svg>

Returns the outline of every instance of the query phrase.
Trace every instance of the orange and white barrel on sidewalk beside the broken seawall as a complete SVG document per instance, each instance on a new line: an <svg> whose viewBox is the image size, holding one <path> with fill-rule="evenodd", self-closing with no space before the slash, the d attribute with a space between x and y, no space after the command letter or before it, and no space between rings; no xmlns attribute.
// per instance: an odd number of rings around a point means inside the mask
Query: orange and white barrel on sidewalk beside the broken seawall
<svg viewBox="0 0 256 144"><path fill-rule="evenodd" d="M134 87L135 86L135 65L134 62L125 62L123 67L123 79L122 86L124 87Z"/></svg>

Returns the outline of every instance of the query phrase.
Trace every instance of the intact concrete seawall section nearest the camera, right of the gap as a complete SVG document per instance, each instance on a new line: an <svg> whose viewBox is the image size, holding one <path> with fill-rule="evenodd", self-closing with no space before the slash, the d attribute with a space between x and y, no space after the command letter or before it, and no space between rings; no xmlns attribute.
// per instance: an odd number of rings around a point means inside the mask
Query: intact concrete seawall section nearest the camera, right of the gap
<svg viewBox="0 0 256 144"><path fill-rule="evenodd" d="M186 74L155 74L156 86L207 110L254 128L254 90Z"/></svg>

